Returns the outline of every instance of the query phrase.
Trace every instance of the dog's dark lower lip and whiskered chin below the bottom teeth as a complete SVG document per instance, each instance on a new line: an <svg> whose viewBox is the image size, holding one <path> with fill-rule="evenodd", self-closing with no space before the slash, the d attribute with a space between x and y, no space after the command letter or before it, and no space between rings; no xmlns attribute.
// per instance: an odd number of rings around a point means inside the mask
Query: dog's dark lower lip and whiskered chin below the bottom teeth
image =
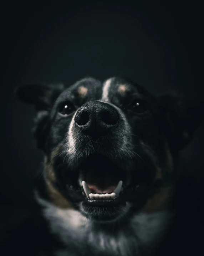
<svg viewBox="0 0 204 256"><path fill-rule="evenodd" d="M87 198L86 194L82 192L83 190L79 190L79 194L81 194L81 192L82 194L78 200L73 200L73 203L83 216L93 221L103 223L115 222L118 219L121 221L123 217L126 218L131 212L139 211L146 201L148 192L146 187L139 186L133 189L134 190L130 191L123 190L115 199L95 200ZM74 190L70 190L70 194L72 194L73 191ZM131 211L129 211L130 207L132 208Z"/></svg>

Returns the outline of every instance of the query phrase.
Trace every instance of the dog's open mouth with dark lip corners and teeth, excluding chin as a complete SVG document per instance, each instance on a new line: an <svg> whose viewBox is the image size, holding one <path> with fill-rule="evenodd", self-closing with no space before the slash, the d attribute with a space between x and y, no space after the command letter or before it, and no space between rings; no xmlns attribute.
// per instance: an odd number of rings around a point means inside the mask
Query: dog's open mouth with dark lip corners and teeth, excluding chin
<svg viewBox="0 0 204 256"><path fill-rule="evenodd" d="M75 202L106 205L137 201L146 186L147 175L135 165L119 163L100 154L88 156L68 177L67 192Z"/></svg>

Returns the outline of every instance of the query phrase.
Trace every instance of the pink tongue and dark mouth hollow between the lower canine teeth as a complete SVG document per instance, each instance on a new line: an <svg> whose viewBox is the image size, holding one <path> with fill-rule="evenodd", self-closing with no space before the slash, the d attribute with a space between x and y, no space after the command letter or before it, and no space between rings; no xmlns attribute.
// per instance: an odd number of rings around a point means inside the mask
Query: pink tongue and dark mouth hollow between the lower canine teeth
<svg viewBox="0 0 204 256"><path fill-rule="evenodd" d="M106 171L90 171L86 174L86 183L94 193L111 193L118 182L119 177Z"/></svg>

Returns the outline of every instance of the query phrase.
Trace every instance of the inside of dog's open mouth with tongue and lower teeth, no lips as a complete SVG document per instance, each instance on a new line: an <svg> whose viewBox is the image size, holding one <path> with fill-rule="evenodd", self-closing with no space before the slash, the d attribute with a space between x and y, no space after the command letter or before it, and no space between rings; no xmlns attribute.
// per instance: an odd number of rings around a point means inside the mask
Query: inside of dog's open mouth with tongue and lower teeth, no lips
<svg viewBox="0 0 204 256"><path fill-rule="evenodd" d="M101 155L87 158L80 168L78 182L87 203L116 202L128 180L127 172Z"/></svg>

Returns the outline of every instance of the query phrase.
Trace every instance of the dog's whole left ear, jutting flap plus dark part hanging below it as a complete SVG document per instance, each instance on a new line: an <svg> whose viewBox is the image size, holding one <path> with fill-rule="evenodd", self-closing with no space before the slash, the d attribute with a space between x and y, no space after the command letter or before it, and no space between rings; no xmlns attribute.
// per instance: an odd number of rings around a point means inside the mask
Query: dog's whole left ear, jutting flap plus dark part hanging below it
<svg viewBox="0 0 204 256"><path fill-rule="evenodd" d="M33 104L36 108L33 133L37 146L44 151L49 132L49 112L63 90L63 84L24 84L15 90L15 95L21 102Z"/></svg>

